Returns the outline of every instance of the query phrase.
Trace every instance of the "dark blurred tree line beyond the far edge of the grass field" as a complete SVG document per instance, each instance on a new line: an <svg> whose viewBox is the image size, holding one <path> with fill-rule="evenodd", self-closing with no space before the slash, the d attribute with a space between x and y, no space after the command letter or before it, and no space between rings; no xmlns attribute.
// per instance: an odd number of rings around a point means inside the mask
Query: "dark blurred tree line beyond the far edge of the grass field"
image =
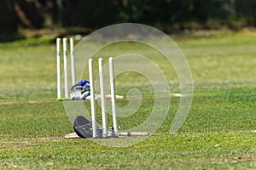
<svg viewBox="0 0 256 170"><path fill-rule="evenodd" d="M122 22L163 31L256 26L255 0L1 0L0 33L19 29L86 27Z"/></svg>

